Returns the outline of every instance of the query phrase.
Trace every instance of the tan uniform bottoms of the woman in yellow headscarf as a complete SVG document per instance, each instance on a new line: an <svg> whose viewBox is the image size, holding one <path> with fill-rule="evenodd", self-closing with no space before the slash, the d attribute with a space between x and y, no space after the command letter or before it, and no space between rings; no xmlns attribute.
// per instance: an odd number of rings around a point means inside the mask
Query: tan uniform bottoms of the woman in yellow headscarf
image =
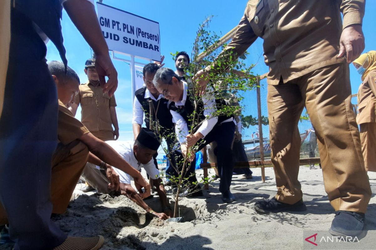
<svg viewBox="0 0 376 250"><path fill-rule="evenodd" d="M376 123L360 124L365 171L376 172Z"/></svg>

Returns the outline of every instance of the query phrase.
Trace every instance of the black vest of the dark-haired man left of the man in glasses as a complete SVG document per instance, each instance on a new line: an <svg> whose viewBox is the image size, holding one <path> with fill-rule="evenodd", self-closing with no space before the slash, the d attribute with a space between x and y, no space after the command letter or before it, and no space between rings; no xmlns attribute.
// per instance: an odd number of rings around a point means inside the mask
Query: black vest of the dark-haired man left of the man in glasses
<svg viewBox="0 0 376 250"><path fill-rule="evenodd" d="M172 115L170 113L170 110L167 108L168 100L161 98L158 101L153 100L152 98L145 98L145 91L146 87L140 88L135 92L135 96L139 103L141 103L142 108L144 110L145 114L145 124L146 127L149 129L150 123L149 123L149 114L150 114L150 108L149 108L149 100L152 100L154 109L157 113L157 117L155 117L155 114L153 114L153 118L158 119L159 125L161 128L161 134L164 135L164 133L171 133L174 130L174 124L172 123ZM159 102L159 106L158 106ZM158 107L158 111L157 111Z"/></svg>

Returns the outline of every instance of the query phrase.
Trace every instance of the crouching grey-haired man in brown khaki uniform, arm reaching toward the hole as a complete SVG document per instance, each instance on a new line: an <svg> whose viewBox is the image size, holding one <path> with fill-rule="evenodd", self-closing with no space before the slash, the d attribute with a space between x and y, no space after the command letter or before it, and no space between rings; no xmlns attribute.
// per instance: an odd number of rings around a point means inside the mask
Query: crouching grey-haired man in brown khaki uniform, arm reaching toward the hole
<svg viewBox="0 0 376 250"><path fill-rule="evenodd" d="M114 168L106 170L111 180L111 189L118 190L119 177L114 169L121 169L133 177L138 186L144 187L143 198L150 196L150 185L139 171L129 165L112 147L96 138L89 130L67 109L66 105L74 101L74 95L79 91L79 78L73 69L64 64L52 61L48 65L52 78L55 80L58 98L58 139L59 144L52 159L51 199L53 213L61 214L67 209L71 195L83 168L88 161L89 151L93 158L101 159Z"/></svg>

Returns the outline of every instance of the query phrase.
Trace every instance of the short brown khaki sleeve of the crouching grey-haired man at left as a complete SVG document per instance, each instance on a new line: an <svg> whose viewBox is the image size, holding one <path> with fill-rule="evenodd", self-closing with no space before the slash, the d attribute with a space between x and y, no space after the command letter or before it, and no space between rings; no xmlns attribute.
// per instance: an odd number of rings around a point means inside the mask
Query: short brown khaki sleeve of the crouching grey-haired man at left
<svg viewBox="0 0 376 250"><path fill-rule="evenodd" d="M58 139L67 145L79 139L82 135L89 133L89 130L79 120L73 117L72 113L64 104L59 101L58 113Z"/></svg>

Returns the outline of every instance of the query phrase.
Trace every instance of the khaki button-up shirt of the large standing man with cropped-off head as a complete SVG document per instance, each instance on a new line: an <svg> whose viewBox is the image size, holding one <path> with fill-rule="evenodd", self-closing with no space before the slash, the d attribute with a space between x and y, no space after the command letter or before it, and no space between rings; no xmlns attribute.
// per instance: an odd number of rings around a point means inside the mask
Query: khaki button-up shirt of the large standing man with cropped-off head
<svg viewBox="0 0 376 250"><path fill-rule="evenodd" d="M249 0L237 32L221 55L241 55L264 39L268 84L291 81L336 58L344 27L361 24L365 0ZM343 23L341 21L343 13ZM220 55L220 56L221 56ZM215 69L217 65L215 65Z"/></svg>

